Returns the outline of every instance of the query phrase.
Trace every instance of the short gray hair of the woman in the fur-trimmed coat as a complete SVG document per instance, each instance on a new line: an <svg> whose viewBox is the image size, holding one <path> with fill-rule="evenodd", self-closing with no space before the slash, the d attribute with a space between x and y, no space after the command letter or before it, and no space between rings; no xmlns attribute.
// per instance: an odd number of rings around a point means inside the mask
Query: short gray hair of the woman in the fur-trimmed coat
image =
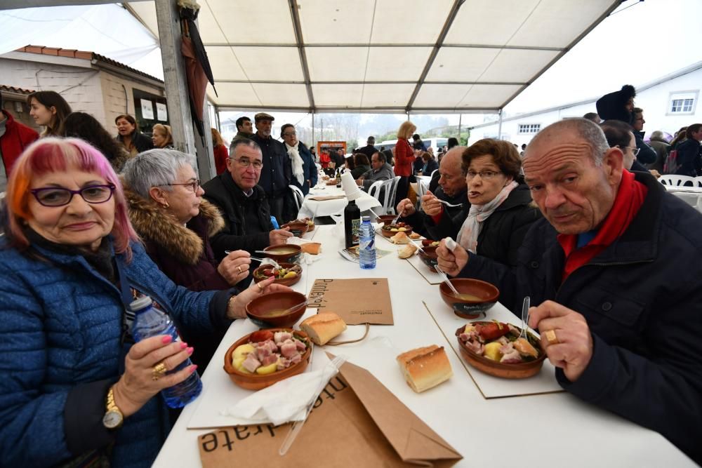
<svg viewBox="0 0 702 468"><path fill-rule="evenodd" d="M173 187L167 184L176 180L178 171L184 166L192 167L197 174L195 156L177 149L150 149L129 159L124 164L122 175L133 192L148 199L151 187L163 187L171 192Z"/></svg>

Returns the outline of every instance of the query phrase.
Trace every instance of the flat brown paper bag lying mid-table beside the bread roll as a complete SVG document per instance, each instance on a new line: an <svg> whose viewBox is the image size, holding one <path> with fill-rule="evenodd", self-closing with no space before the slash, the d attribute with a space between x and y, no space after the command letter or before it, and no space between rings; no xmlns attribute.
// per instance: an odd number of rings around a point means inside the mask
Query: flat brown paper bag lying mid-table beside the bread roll
<svg viewBox="0 0 702 468"><path fill-rule="evenodd" d="M334 312L348 325L392 325L387 278L316 279L307 307Z"/></svg>

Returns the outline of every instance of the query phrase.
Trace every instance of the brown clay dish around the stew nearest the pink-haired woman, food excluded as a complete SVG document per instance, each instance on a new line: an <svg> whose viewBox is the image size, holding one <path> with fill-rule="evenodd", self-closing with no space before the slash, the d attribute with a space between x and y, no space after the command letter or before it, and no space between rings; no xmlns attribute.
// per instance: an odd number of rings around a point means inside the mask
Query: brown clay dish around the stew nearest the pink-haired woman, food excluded
<svg viewBox="0 0 702 468"><path fill-rule="evenodd" d="M234 368L234 365L232 364L234 349L237 349L237 347L241 345L246 345L246 343L249 342L251 335L253 335L253 333L256 332L249 333L248 335L241 337L239 340L237 340L237 342L234 342L234 345L230 346L224 355L224 370L229 375L229 378L232 380L232 382L234 382L234 384L236 385L239 385L239 387L247 390L265 389L265 387L270 387L271 385L273 385L276 382L279 382L280 380L303 373L307 368L307 364L310 363L310 356L312 356L312 341L307 337L307 334L305 332L300 330L291 330L289 328L270 328L269 330L273 333L277 331L286 331L293 333L294 337L304 342L305 345L307 345L307 349L303 353L302 360L300 360L300 362L296 364L293 364L289 368L283 370L276 370L273 373L265 375L244 372L237 368Z"/></svg>

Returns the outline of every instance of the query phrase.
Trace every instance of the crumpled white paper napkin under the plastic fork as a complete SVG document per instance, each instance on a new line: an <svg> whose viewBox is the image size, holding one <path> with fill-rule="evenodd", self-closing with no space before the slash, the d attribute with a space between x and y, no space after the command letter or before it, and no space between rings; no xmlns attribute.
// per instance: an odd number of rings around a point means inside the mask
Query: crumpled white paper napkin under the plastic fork
<svg viewBox="0 0 702 468"><path fill-rule="evenodd" d="M272 422L275 425L304 420L307 406L317 399L345 361L345 356L337 356L324 368L281 380L247 396L221 414L245 418L254 423Z"/></svg>

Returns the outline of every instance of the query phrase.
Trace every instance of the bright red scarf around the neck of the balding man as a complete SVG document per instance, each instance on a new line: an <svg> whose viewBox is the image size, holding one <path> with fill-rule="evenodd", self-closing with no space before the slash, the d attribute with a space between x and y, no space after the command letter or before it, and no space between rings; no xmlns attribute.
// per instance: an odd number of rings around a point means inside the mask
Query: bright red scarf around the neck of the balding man
<svg viewBox="0 0 702 468"><path fill-rule="evenodd" d="M645 185L634 180L633 173L623 171L614 205L590 242L581 248L577 248L577 234L558 234L558 242L566 255L562 281L565 281L576 269L590 262L595 255L609 247L626 231L644 203L647 192L648 189Z"/></svg>

